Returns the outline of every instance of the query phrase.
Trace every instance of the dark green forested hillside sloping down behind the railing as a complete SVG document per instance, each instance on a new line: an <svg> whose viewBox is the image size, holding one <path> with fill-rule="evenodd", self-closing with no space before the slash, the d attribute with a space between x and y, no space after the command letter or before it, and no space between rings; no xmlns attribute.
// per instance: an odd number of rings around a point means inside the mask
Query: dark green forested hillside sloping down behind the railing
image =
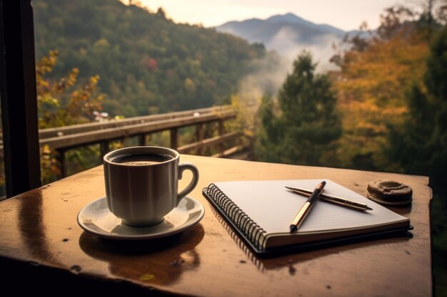
<svg viewBox="0 0 447 297"><path fill-rule="evenodd" d="M59 49L51 77L99 75L111 115L148 115L224 103L263 46L212 28L174 24L117 0L34 0L36 58Z"/></svg>

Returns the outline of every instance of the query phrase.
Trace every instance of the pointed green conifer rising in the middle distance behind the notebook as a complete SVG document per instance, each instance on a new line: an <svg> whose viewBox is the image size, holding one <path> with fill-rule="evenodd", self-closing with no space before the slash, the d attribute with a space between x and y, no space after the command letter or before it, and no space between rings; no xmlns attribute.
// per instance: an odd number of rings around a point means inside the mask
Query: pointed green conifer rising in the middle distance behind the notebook
<svg viewBox="0 0 447 297"><path fill-rule="evenodd" d="M260 160L336 164L334 141L341 136L336 96L328 76L316 74L315 68L311 53L303 51L279 90L277 105L271 96L263 97L256 145Z"/></svg>

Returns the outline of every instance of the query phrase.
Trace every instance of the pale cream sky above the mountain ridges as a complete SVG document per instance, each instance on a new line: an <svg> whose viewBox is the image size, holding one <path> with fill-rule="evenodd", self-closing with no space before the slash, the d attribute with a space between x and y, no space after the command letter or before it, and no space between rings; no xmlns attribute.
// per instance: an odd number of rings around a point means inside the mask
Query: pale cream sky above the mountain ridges
<svg viewBox="0 0 447 297"><path fill-rule="evenodd" d="M291 12L315 24L329 24L342 30L358 29L363 21L377 28L380 14L396 0L139 0L151 11L163 7L176 23L219 26L227 21L267 19ZM126 1L124 1L126 2Z"/></svg>

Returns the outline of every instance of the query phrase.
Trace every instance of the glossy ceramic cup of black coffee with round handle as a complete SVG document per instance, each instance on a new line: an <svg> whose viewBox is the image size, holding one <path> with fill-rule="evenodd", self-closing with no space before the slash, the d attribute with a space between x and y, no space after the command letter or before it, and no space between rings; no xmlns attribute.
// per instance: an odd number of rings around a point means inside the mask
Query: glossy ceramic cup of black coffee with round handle
<svg viewBox="0 0 447 297"><path fill-rule="evenodd" d="M177 207L197 182L199 170L179 164L180 154L167 147L125 147L104 155L106 201L110 211L129 226L151 226ZM178 192L184 170L191 182Z"/></svg>

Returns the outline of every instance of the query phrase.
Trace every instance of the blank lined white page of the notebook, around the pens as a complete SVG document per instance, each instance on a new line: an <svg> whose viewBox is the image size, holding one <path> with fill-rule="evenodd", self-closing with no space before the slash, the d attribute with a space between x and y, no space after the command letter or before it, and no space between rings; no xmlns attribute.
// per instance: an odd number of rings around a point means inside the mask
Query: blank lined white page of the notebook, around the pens
<svg viewBox="0 0 447 297"><path fill-rule="evenodd" d="M359 212L328 202L317 201L298 229L298 233L362 229L365 226L408 221L406 217L391 212L380 204L329 179L236 181L215 182L214 184L267 234L273 234L289 233L290 223L307 200L307 197L288 191L285 186L313 190L323 180L326 181L324 193L368 204L368 207L373 210Z"/></svg>

